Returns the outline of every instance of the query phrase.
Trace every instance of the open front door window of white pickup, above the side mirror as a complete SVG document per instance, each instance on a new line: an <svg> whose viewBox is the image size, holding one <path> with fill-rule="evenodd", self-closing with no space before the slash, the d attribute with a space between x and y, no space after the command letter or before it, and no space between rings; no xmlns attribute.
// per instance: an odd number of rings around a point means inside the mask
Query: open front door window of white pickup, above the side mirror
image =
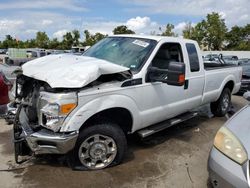
<svg viewBox="0 0 250 188"><path fill-rule="evenodd" d="M181 45L179 43L165 43L156 53L152 66L159 69L168 69L170 62L183 62Z"/></svg>

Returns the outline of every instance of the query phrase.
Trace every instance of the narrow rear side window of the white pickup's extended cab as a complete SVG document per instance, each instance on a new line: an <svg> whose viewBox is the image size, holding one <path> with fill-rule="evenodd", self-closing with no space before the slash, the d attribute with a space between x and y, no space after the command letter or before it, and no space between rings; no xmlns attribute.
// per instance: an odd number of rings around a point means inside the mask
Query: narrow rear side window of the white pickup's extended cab
<svg viewBox="0 0 250 188"><path fill-rule="evenodd" d="M186 44L191 72L200 71L199 57L194 44Z"/></svg>

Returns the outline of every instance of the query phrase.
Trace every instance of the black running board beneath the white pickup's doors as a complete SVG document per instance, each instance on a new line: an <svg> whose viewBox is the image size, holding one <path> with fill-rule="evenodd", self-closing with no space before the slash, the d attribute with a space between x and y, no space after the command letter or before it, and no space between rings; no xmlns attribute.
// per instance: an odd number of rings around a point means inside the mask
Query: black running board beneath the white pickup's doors
<svg viewBox="0 0 250 188"><path fill-rule="evenodd" d="M197 115L198 115L198 112L187 112L187 113L181 114L179 116L176 116L172 119L169 119L167 121L164 121L164 122L152 125L150 127L147 127L145 129L139 130L137 133L139 134L139 136L141 138L145 138L145 137L150 136L154 133L157 133L159 131L167 129L173 125L177 125L181 122L184 122L184 121L187 121L191 118L194 118Z"/></svg>

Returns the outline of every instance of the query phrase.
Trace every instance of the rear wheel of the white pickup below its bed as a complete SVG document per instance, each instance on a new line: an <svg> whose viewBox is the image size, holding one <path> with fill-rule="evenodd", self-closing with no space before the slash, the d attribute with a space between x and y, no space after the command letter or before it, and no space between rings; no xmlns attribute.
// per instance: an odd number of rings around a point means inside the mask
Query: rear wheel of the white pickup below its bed
<svg viewBox="0 0 250 188"><path fill-rule="evenodd" d="M231 91L229 88L224 88L220 98L210 104L211 112L217 117L223 117L227 114L231 105Z"/></svg>

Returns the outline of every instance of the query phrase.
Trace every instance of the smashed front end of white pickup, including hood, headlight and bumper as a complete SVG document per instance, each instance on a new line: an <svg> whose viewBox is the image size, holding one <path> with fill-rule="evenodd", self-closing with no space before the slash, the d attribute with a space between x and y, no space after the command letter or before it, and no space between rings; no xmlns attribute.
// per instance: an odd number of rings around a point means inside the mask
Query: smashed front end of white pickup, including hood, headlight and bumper
<svg viewBox="0 0 250 188"><path fill-rule="evenodd" d="M16 80L15 157L66 154L78 138L66 122L80 108L78 92L130 79L127 67L87 56L49 55L22 66ZM84 104L81 104L84 105ZM78 122L79 123L79 122ZM84 123L84 122L82 122Z"/></svg>

